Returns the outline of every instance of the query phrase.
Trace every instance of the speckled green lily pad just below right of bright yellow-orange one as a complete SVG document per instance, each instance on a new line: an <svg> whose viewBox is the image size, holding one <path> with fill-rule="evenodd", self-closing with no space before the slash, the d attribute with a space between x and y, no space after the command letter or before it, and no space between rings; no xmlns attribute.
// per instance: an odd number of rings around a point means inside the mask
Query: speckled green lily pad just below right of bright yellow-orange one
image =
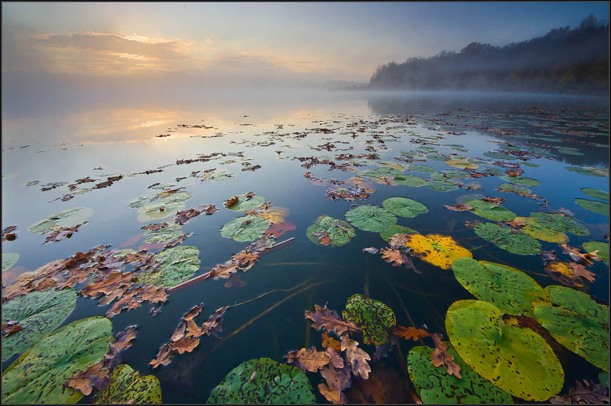
<svg viewBox="0 0 611 406"><path fill-rule="evenodd" d="M510 315L523 313L532 317L532 302L547 299L547 294L534 279L507 265L457 258L452 263L452 270L460 285L476 298Z"/></svg>

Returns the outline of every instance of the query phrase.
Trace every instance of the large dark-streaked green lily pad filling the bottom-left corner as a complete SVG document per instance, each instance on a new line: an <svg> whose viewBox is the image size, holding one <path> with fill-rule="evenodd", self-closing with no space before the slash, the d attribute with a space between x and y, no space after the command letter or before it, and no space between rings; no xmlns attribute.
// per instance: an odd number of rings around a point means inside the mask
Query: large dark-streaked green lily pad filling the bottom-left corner
<svg viewBox="0 0 611 406"><path fill-rule="evenodd" d="M2 372L2 403L76 403L69 377L103 360L113 340L111 320L76 320L46 335Z"/></svg>

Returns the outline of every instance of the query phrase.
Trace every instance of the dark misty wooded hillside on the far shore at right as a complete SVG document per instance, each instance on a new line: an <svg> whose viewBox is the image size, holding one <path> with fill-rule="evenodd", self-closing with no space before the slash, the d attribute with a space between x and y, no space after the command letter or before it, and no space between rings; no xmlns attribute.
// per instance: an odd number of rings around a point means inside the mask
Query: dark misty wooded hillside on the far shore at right
<svg viewBox="0 0 611 406"><path fill-rule="evenodd" d="M587 16L575 29L552 29L505 46L473 42L378 66L371 90L480 90L604 95L609 92L609 21Z"/></svg>

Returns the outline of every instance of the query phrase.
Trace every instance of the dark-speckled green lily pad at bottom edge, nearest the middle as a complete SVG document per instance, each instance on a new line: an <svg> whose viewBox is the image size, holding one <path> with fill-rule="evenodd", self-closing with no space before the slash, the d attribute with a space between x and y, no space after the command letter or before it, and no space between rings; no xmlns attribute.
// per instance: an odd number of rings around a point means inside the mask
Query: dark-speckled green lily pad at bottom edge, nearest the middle
<svg viewBox="0 0 611 406"><path fill-rule="evenodd" d="M310 380L299 368L260 358L233 368L212 390L206 403L264 405L311 404L315 401Z"/></svg>

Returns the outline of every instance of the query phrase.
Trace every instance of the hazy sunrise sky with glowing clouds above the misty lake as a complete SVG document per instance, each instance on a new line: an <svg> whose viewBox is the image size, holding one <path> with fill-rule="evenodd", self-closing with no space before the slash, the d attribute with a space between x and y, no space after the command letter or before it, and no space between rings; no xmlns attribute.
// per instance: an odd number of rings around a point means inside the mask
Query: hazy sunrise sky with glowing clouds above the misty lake
<svg viewBox="0 0 611 406"><path fill-rule="evenodd" d="M525 41L591 13L608 19L609 2L3 2L3 85L16 73L88 86L368 82L390 61Z"/></svg>

